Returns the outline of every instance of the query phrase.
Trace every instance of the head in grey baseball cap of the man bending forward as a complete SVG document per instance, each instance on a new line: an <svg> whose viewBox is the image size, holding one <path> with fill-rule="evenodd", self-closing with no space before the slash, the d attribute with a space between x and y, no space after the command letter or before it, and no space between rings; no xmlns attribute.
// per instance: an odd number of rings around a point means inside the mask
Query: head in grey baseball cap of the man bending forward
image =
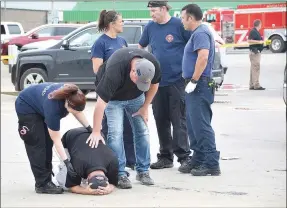
<svg viewBox="0 0 287 208"><path fill-rule="evenodd" d="M131 62L130 78L140 91L149 90L155 74L155 66L145 58L135 58Z"/></svg>

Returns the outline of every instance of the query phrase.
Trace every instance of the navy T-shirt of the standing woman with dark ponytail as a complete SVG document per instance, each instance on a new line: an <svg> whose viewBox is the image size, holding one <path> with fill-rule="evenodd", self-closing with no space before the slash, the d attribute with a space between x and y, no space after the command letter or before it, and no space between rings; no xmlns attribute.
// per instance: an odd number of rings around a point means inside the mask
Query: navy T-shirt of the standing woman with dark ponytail
<svg viewBox="0 0 287 208"><path fill-rule="evenodd" d="M92 58L101 58L105 62L116 50L124 47L128 44L122 37L111 38L103 34L92 47Z"/></svg>

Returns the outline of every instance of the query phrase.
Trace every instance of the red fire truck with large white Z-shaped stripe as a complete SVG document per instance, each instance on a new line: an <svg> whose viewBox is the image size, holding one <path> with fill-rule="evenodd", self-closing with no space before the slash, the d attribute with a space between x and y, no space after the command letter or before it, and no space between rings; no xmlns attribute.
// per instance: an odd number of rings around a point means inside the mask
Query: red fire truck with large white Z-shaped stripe
<svg viewBox="0 0 287 208"><path fill-rule="evenodd" d="M204 18L211 22L226 43L238 43L248 48L248 35L256 19L262 21L259 31L263 40L271 40L273 53L286 50L286 3L238 5L236 10L214 8L206 11Z"/></svg>

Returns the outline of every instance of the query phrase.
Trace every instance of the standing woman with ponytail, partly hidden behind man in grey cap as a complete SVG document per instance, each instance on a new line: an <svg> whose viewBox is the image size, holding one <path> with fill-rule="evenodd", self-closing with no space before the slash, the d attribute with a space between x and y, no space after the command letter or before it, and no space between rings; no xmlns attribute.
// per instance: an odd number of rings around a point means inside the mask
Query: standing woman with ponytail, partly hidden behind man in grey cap
<svg viewBox="0 0 287 208"><path fill-rule="evenodd" d="M123 32L123 18L116 11L102 10L99 17L98 29L100 32L104 32L104 34L96 40L92 47L93 70L95 73L98 72L103 63L106 62L116 50L128 47L126 40L118 36ZM103 118L102 126L102 131L107 138L108 126L106 116ZM136 158L133 132L126 114L124 116L123 139L125 144L127 167L134 169Z"/></svg>

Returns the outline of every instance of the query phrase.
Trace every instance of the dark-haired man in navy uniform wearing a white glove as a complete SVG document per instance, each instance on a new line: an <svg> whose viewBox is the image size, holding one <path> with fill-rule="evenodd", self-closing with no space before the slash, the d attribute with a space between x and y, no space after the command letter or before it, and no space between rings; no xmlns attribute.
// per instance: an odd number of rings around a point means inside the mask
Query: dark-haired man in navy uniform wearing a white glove
<svg viewBox="0 0 287 208"><path fill-rule="evenodd" d="M212 66L215 44L211 31L201 24L202 11L196 4L182 8L184 28L192 31L183 55L183 78L186 82L186 117L190 148L194 151L189 167L194 176L220 175L219 151L211 126L214 102Z"/></svg>

